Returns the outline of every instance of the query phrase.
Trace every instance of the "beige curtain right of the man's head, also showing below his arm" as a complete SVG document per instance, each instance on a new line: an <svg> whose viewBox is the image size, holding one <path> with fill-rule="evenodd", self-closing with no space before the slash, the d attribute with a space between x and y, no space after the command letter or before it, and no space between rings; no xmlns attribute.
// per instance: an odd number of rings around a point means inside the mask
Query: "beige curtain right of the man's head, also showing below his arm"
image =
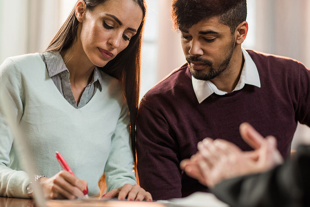
<svg viewBox="0 0 310 207"><path fill-rule="evenodd" d="M310 68L310 1L257 0L255 12L253 49L291 57ZM301 143L310 144L310 128L298 124L292 149Z"/></svg>

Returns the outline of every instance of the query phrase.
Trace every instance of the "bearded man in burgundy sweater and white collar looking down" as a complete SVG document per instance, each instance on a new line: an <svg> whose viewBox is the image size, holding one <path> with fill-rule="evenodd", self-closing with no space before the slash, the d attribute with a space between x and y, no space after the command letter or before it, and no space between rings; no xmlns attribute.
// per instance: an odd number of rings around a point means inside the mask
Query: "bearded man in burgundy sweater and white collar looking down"
<svg viewBox="0 0 310 207"><path fill-rule="evenodd" d="M248 122L287 157L297 121L310 126L309 70L241 47L246 0L173 0L171 11L188 63L144 96L136 125L139 181L155 200L208 191L179 168L205 137L251 150L238 132Z"/></svg>

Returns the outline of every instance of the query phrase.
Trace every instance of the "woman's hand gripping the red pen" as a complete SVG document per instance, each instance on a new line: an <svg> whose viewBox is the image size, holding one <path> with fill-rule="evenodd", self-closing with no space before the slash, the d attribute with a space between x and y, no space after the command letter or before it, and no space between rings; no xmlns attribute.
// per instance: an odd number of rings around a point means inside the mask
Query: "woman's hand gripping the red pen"
<svg viewBox="0 0 310 207"><path fill-rule="evenodd" d="M76 199L87 194L87 182L69 172L62 170L51 178L38 180L43 189L45 199Z"/></svg>

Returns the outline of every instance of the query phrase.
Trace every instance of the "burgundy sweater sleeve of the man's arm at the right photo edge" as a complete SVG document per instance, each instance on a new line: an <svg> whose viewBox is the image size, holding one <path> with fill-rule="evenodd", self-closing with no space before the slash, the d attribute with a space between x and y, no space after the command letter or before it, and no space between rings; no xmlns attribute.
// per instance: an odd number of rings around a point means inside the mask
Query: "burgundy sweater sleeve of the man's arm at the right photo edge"
<svg viewBox="0 0 310 207"><path fill-rule="evenodd" d="M310 70L299 64L299 101L296 116L310 127Z"/></svg>

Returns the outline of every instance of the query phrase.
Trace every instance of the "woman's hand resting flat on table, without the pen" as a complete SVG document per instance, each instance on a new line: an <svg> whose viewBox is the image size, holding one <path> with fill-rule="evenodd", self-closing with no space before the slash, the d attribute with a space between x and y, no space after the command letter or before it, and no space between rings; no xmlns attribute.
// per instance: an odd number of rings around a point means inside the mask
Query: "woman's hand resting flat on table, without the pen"
<svg viewBox="0 0 310 207"><path fill-rule="evenodd" d="M107 194L103 195L102 198L113 198L117 197L118 200L136 200L136 201L153 201L151 194L145 191L139 185L125 184L122 187L113 189Z"/></svg>

